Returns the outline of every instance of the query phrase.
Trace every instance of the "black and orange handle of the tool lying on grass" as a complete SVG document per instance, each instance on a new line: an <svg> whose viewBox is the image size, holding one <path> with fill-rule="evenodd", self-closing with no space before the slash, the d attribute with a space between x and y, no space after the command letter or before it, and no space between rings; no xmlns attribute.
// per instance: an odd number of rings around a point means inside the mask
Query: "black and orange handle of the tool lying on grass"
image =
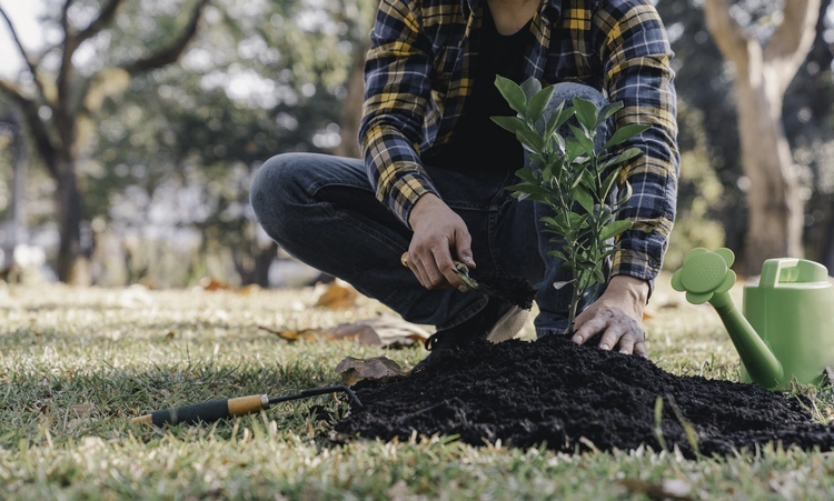
<svg viewBox="0 0 834 501"><path fill-rule="evenodd" d="M251 394L238 397L237 399L220 399L209 402L192 403L190 405L172 407L153 411L150 414L140 415L130 420L133 424L190 424L198 421L214 422L237 415L246 415L269 409L269 397L266 394Z"/></svg>

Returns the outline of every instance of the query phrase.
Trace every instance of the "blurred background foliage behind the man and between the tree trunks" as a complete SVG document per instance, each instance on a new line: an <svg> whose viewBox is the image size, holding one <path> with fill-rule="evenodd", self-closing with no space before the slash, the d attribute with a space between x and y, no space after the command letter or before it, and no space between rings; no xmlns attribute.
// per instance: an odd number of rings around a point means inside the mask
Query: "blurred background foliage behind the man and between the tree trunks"
<svg viewBox="0 0 834 501"><path fill-rule="evenodd" d="M98 4L79 0L76 16L89 18ZM186 4L127 2L112 26L85 42L81 72L161 47L187 16ZM823 12L828 4L823 1ZM766 41L781 21L781 6L738 0L733 14ZM93 249L93 282L180 287L211 275L267 284L277 249L248 207L251 176L275 153L345 147L340 132L353 130L356 120L345 114L346 104L359 99L349 91L350 77L360 68L356 61L375 7L375 0L212 0L178 63L135 78L123 93L105 99L79 163L82 237ZM694 246L726 243L741 255L748 181L739 167L733 68L706 31L703 0L658 0L656 7L676 52L683 162L666 265L679 264ZM54 22L54 16L43 20L44 39ZM817 28L784 116L807 199L806 255L834 268L834 28L827 16ZM11 108L0 94L0 120ZM8 180L10 144L10 129L0 127L0 174ZM30 242L44 247L53 261L54 184L36 153L30 141L27 226ZM8 217L10 200L7 186L0 190L0 217Z"/></svg>

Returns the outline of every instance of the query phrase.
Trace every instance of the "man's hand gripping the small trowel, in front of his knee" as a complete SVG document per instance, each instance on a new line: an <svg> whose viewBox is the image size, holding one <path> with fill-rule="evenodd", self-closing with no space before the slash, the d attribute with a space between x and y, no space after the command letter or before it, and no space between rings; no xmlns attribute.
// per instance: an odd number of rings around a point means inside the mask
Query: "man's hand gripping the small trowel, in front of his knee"
<svg viewBox="0 0 834 501"><path fill-rule="evenodd" d="M453 271L451 251L469 268L475 268L471 257L471 237L466 223L437 196L426 193L411 208L408 223L414 230L408 247L408 267L426 289L454 287L466 291L466 284Z"/></svg>

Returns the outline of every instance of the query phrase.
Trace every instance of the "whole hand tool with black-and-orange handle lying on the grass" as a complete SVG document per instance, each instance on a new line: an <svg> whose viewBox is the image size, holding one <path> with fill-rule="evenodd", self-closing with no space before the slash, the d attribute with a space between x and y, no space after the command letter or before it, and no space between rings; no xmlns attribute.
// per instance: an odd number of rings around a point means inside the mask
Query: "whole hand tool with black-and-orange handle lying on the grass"
<svg viewBox="0 0 834 501"><path fill-rule="evenodd" d="M286 402L288 400L306 399L308 397L316 397L319 394L334 393L344 391L350 397L357 405L361 407L361 402L356 397L353 390L344 384L336 387L322 387L314 388L310 390L304 390L300 393L288 394L284 397L269 398L266 394L252 394L248 397L239 397L237 399L220 399L212 400L210 402L192 403L190 405L173 407L170 409L163 409L153 411L150 414L141 415L130 420L135 424L156 424L162 427L165 424L189 424L198 421L212 422L220 419L231 418L236 415L246 415L251 412L259 412L267 410L274 403Z"/></svg>

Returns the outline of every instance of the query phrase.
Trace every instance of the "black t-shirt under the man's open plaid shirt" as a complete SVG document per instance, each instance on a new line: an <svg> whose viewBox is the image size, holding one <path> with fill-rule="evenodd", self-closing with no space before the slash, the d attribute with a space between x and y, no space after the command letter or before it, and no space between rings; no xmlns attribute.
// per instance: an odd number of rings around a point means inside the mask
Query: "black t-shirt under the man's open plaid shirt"
<svg viewBox="0 0 834 501"><path fill-rule="evenodd" d="M495 77L500 74L522 83L529 23L514 34L503 36L485 4L479 33L478 56L470 70L473 93L466 98L451 142L424 161L458 171L515 171L524 167L524 150L515 136L490 117L516 114L495 87Z"/></svg>

